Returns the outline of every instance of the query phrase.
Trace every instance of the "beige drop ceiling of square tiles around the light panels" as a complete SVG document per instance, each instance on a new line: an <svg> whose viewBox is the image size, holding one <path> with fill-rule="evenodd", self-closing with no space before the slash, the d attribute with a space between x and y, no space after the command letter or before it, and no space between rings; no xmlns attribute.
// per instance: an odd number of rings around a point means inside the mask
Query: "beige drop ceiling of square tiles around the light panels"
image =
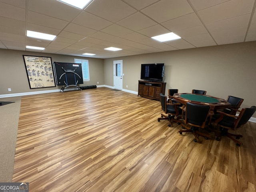
<svg viewBox="0 0 256 192"><path fill-rule="evenodd" d="M0 0L0 48L114 58L255 41L255 6L256 0L94 0L80 10L57 0ZM38 41L26 30L57 37ZM169 32L181 39L150 38Z"/></svg>

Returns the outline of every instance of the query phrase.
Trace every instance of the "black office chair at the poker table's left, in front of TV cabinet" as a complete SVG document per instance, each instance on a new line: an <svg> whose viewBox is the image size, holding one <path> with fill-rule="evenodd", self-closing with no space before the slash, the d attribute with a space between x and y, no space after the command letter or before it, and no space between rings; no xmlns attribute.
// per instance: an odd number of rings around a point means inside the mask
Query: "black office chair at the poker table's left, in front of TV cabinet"
<svg viewBox="0 0 256 192"><path fill-rule="evenodd" d="M180 119L182 118L182 109L179 107L180 103L167 103L167 97L162 93L160 93L160 102L162 110L164 111L165 114L161 114L161 118L157 119L158 122L160 122L160 120L168 120L169 127L172 125L173 122L181 124L182 122Z"/></svg>

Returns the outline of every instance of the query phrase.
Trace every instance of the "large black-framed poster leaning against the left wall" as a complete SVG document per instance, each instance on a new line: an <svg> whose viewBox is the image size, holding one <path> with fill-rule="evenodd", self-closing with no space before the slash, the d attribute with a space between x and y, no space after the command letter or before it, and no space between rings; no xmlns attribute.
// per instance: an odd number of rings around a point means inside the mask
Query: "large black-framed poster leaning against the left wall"
<svg viewBox="0 0 256 192"><path fill-rule="evenodd" d="M56 87L52 58L23 55L30 89Z"/></svg>

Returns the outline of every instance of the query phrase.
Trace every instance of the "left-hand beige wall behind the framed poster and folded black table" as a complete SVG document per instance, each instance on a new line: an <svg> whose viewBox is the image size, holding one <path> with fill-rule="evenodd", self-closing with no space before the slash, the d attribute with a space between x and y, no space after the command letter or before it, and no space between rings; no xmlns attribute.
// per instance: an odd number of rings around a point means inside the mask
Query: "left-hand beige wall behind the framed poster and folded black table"
<svg viewBox="0 0 256 192"><path fill-rule="evenodd" d="M62 86L30 89L22 55L51 57L52 62L74 63L74 58L88 59L90 82L80 86L104 85L103 59L0 49L0 95L34 91L56 90ZM99 82L99 84L97 84ZM8 92L8 88L12 91Z"/></svg>

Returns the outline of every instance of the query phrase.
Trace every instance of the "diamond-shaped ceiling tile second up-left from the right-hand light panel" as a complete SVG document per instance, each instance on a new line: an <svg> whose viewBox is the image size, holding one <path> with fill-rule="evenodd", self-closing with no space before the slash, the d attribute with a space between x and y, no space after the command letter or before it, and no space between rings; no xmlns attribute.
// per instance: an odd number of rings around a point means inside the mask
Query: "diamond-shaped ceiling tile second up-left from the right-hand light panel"
<svg viewBox="0 0 256 192"><path fill-rule="evenodd" d="M146 17L140 12L136 12L131 16L128 16L116 24L121 25L123 27L129 28L134 31L142 30L144 28L148 28L150 26L156 25L157 23Z"/></svg>

